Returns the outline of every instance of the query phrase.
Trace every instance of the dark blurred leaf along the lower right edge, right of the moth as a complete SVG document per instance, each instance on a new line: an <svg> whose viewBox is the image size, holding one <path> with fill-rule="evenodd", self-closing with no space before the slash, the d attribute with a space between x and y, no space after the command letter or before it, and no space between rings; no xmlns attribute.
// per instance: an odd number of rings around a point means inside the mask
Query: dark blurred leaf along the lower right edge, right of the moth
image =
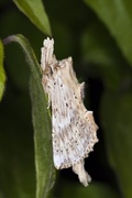
<svg viewBox="0 0 132 198"><path fill-rule="evenodd" d="M125 198L132 197L132 92L107 91L101 102L108 157Z"/></svg>

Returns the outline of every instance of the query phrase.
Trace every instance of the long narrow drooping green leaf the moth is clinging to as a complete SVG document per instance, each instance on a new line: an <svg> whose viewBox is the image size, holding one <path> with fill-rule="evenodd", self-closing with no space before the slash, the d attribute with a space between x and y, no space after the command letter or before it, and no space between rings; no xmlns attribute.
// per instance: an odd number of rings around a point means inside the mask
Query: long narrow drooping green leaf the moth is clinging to
<svg viewBox="0 0 132 198"><path fill-rule="evenodd" d="M46 198L54 185L55 169L52 153L51 118L41 82L42 74L34 52L24 36L9 36L4 43L9 42L20 44L31 69L30 92L35 143L36 198Z"/></svg>

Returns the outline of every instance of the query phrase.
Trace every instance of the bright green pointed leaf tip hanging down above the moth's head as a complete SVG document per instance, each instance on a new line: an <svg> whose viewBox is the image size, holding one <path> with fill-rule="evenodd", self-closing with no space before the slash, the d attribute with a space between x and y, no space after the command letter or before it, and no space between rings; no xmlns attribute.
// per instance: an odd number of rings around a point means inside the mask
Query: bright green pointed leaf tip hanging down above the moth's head
<svg viewBox="0 0 132 198"><path fill-rule="evenodd" d="M42 0L13 0L18 8L45 34L51 35L51 26Z"/></svg>

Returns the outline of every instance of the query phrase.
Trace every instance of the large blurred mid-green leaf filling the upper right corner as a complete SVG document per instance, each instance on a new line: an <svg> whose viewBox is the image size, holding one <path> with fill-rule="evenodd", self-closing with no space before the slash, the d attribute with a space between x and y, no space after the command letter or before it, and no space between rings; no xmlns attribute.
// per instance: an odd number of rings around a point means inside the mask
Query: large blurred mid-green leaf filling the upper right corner
<svg viewBox="0 0 132 198"><path fill-rule="evenodd" d="M85 2L102 20L125 58L132 64L132 2L130 0L85 0Z"/></svg>

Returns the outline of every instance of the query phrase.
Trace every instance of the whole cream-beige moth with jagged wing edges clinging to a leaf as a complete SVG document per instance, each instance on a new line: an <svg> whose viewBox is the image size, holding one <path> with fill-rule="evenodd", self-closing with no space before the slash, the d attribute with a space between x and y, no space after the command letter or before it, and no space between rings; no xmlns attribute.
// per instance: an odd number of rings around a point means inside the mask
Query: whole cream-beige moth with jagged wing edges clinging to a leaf
<svg viewBox="0 0 132 198"><path fill-rule="evenodd" d="M73 69L73 59L57 61L54 40L44 40L41 56L42 85L52 107L53 161L57 169L72 167L80 183L91 180L85 158L98 142L92 111L84 106L84 86Z"/></svg>

